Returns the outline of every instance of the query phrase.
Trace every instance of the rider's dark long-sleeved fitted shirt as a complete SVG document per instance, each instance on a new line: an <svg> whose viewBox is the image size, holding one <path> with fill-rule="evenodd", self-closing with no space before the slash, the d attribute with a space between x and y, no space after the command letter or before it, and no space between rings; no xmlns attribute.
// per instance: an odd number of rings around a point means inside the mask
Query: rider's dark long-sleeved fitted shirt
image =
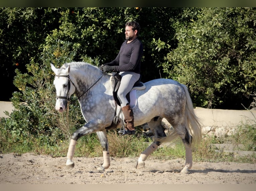
<svg viewBox="0 0 256 191"><path fill-rule="evenodd" d="M143 55L143 46L139 39L134 39L127 44L127 40L121 45L120 51L115 60L107 63L115 66L116 72L132 71L140 74L140 63Z"/></svg>

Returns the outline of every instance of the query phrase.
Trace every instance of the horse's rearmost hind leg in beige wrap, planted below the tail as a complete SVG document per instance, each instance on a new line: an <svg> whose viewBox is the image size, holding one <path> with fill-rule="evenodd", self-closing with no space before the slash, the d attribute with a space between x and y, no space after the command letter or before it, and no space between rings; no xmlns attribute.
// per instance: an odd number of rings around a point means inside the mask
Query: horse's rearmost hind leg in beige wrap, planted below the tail
<svg viewBox="0 0 256 191"><path fill-rule="evenodd" d="M185 125L180 125L178 128L176 128L176 131L185 146L185 152L186 152L185 166L180 172L188 173L188 169L190 169L193 164L192 148L191 148L192 136L187 131Z"/></svg>

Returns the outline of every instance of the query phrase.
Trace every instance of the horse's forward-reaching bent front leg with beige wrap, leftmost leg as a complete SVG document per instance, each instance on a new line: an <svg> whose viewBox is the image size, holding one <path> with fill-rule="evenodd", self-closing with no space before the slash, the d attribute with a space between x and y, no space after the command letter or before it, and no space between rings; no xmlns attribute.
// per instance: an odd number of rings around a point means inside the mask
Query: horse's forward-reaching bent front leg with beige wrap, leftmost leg
<svg viewBox="0 0 256 191"><path fill-rule="evenodd" d="M76 130L73 133L73 135L71 136L69 150L68 150L68 154L67 154L67 161L66 161L66 169L67 170L71 170L75 166L75 163L72 159L75 154L77 140L84 135L87 135L87 134L90 134L93 132L97 132L100 130L101 130L101 127L98 123L88 122L83 127L81 127L80 129Z"/></svg>

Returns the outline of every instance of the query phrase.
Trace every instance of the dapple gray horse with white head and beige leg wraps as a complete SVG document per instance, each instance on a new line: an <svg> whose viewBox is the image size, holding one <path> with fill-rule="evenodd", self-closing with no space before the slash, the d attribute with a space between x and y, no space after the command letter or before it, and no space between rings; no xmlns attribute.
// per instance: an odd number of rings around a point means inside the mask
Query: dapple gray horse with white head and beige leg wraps
<svg viewBox="0 0 256 191"><path fill-rule="evenodd" d="M112 83L110 78L114 73L103 74L96 66L84 62L63 64L59 69L51 64L55 73L54 86L56 89L55 108L59 112L67 109L67 102L72 94L78 97L81 112L87 121L76 130L70 140L67 153L66 167L72 169L72 161L77 140L84 135L96 132L103 148L103 164L98 170L105 170L110 166L109 144L106 129L121 128L120 122L113 125L115 110ZM144 90L134 91L136 100L133 105L134 126L147 123L154 133L154 141L139 156L136 168L145 166L146 158L163 142L169 142L180 137L185 146L185 165L181 170L187 173L192 167L192 145L200 143L202 139L201 125L194 113L193 104L187 88L170 79L156 79L144 83ZM132 100L132 99L131 99ZM174 128L173 133L166 136L162 127L165 118Z"/></svg>

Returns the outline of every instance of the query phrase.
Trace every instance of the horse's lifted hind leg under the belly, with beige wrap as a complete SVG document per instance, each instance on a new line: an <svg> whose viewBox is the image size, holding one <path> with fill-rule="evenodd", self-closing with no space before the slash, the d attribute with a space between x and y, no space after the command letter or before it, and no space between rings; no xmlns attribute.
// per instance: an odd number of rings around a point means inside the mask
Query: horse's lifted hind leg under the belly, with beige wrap
<svg viewBox="0 0 256 191"><path fill-rule="evenodd" d="M153 132L155 137L165 137L166 134L164 132L164 129L162 127L162 118L161 117L155 117L150 122L148 122L148 126L150 127L151 131ZM147 157L157 149L157 147L161 143L159 141L154 141L152 144L150 144L141 154L137 161L136 168L142 168L145 166L145 160Z"/></svg>

